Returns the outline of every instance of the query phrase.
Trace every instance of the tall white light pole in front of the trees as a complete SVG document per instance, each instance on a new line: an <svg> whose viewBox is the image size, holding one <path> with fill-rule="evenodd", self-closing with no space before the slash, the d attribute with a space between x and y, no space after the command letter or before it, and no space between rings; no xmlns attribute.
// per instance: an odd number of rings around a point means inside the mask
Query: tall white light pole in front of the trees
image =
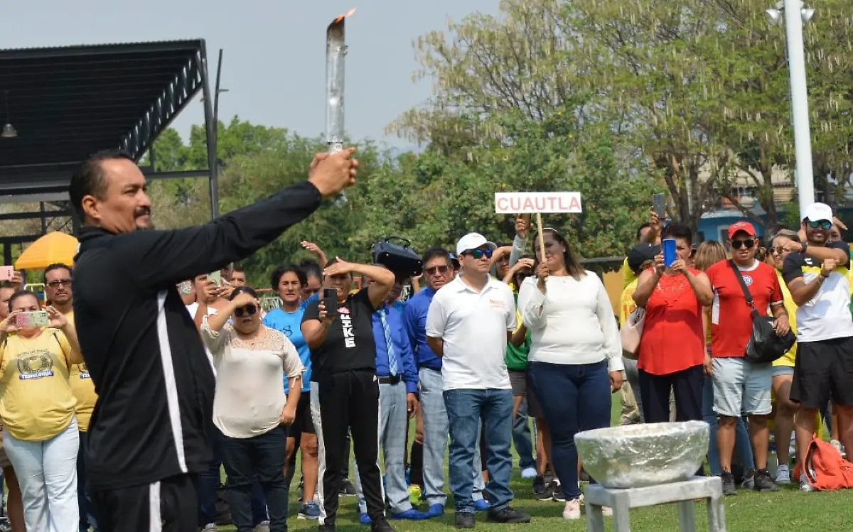
<svg viewBox="0 0 853 532"><path fill-rule="evenodd" d="M815 181L811 165L811 131L809 130L809 92L805 78L805 44L803 26L815 14L803 7L801 0L784 0L764 12L772 25L785 21L788 51L788 76L791 79L791 118L794 126L794 152L797 160L797 193L800 213L815 202Z"/></svg>

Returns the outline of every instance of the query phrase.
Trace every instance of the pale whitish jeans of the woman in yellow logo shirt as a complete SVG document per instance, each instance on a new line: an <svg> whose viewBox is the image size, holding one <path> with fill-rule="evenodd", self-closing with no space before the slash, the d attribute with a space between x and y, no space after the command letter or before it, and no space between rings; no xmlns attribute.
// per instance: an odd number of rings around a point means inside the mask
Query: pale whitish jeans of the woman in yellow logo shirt
<svg viewBox="0 0 853 532"><path fill-rule="evenodd" d="M77 419L44 442L17 440L3 431L3 447L24 501L24 523L33 532L78 532Z"/></svg>

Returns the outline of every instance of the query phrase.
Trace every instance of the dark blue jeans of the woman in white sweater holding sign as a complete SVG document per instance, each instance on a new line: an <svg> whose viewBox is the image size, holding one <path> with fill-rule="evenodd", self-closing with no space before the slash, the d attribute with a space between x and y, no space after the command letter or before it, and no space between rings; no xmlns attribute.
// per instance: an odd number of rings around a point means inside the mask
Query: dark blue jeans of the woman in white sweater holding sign
<svg viewBox="0 0 853 532"><path fill-rule="evenodd" d="M610 426L610 373L607 362L527 367L533 391L551 430L551 460L566 500L580 499L575 435Z"/></svg>

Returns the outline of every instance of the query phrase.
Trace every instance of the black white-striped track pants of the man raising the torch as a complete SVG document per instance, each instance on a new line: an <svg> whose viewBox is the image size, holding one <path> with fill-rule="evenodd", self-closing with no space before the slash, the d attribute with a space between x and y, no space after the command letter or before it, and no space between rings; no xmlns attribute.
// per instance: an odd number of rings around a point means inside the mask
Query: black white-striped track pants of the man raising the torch
<svg viewBox="0 0 853 532"><path fill-rule="evenodd" d="M199 502L193 476L145 486L93 490L100 532L196 532Z"/></svg>

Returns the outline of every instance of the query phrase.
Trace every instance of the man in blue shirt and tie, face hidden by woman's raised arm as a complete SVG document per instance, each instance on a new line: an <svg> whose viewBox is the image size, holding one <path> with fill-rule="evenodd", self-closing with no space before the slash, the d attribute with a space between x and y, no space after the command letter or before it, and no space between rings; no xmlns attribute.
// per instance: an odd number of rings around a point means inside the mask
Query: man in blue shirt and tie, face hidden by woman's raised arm
<svg viewBox="0 0 853 532"><path fill-rule="evenodd" d="M419 512L409 502L403 464L406 452L406 426L409 424L409 419L415 417L418 409L418 372L409 338L403 330L403 315L394 304L403 290L402 279L397 275L385 305L376 309L373 314L376 377L379 379L379 441L382 452L385 454L386 500L391 507L391 518L418 520L426 519L427 514ZM359 520L368 524L370 518L357 467L356 493Z"/></svg>

